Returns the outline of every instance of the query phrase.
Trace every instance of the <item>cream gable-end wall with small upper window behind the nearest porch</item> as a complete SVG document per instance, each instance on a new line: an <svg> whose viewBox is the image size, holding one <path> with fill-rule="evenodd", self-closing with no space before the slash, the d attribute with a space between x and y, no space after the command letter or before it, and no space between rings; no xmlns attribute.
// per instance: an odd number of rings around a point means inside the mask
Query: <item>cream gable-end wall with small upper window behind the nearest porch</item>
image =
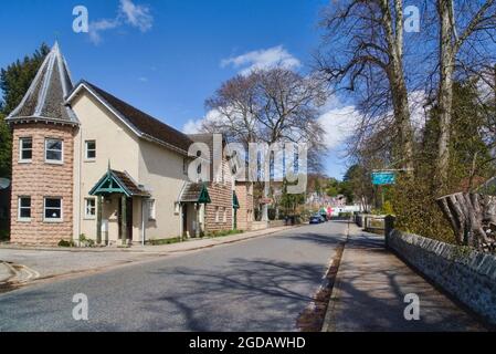
<svg viewBox="0 0 496 354"><path fill-rule="evenodd" d="M117 117L115 117L103 104L91 94L83 91L76 97L72 107L81 122L80 132L75 138L74 156L74 238L81 233L96 239L96 219L86 220L84 212L84 199L89 190L104 176L110 167L116 170L127 171L135 180L139 181L139 138ZM85 159L86 140L96 140L96 159ZM134 200L133 238L140 240L141 208L140 200ZM109 239L117 240L118 222L116 212L117 202L104 204L104 219L108 218Z"/></svg>

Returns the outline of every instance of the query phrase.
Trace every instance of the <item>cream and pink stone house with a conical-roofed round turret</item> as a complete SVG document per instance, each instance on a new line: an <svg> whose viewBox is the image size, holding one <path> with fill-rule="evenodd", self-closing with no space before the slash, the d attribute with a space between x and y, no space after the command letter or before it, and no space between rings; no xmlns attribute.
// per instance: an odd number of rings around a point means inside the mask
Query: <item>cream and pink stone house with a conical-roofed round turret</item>
<svg viewBox="0 0 496 354"><path fill-rule="evenodd" d="M56 43L7 122L13 243L55 246L84 235L112 244L251 228L252 186L233 180L224 153L211 181L188 178L189 147L213 147L212 134L184 135L92 83L74 85Z"/></svg>

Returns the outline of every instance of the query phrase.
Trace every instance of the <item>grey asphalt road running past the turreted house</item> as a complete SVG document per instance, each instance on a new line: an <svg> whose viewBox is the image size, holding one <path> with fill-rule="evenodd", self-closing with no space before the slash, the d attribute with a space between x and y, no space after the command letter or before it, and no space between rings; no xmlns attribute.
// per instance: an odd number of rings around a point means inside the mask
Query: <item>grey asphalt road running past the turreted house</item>
<svg viewBox="0 0 496 354"><path fill-rule="evenodd" d="M295 331L347 225L265 238L0 294L1 331ZM75 321L77 293L88 321Z"/></svg>

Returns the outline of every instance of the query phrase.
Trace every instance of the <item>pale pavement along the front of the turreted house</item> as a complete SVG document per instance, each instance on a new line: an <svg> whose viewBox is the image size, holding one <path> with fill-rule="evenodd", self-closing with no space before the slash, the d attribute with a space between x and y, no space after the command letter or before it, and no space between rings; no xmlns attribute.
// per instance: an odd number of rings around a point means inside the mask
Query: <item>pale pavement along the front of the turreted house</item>
<svg viewBox="0 0 496 354"><path fill-rule="evenodd" d="M228 237L192 239L186 242L161 246L140 246L131 248L43 248L19 247L3 244L0 247L0 284L10 278L17 282L18 278L25 275L15 271L15 268L31 272L31 281L51 279L63 275L75 275L85 272L105 271L113 267L120 267L133 262L147 261L159 257L199 251L207 248L241 242L258 237L266 237L275 232L292 229L293 227L279 227L266 230L251 231ZM15 268L8 268L3 262L9 262ZM8 270L14 271L8 277ZM4 275L2 275L4 274ZM4 278L2 280L2 277Z"/></svg>

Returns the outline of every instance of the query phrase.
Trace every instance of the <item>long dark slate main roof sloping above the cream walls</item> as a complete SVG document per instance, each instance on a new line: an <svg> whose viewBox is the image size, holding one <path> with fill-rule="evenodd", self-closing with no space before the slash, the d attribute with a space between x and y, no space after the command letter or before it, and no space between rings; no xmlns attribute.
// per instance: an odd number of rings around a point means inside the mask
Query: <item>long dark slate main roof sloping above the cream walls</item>
<svg viewBox="0 0 496 354"><path fill-rule="evenodd" d="M193 142L186 134L158 121L151 115L131 106L130 104L117 98L110 93L87 81L81 81L74 87L73 92L75 92L81 85L87 87L94 95L104 102L105 105L115 111L119 117L125 119L125 122L129 124L140 136L158 140L159 143L163 143L175 147L176 149L188 153L188 149ZM72 95L72 93L70 93L70 95Z"/></svg>

